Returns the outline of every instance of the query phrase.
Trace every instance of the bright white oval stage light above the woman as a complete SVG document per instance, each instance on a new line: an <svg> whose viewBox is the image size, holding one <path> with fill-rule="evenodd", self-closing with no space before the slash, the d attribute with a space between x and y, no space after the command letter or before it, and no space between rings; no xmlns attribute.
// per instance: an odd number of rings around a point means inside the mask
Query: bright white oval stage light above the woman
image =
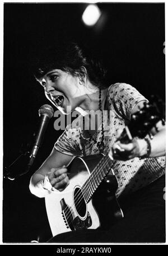
<svg viewBox="0 0 168 256"><path fill-rule="evenodd" d="M94 26L100 16L99 7L96 4L89 4L82 14L82 20L87 26Z"/></svg>

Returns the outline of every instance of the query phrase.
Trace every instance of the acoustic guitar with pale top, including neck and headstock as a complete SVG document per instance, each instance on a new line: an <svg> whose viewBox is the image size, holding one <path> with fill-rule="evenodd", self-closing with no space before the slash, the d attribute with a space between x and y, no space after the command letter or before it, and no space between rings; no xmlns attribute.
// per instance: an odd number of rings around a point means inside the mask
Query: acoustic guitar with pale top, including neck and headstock
<svg viewBox="0 0 168 256"><path fill-rule="evenodd" d="M144 103L133 114L124 128L120 141L133 137L144 138L162 119L158 104ZM69 185L62 192L54 191L45 197L46 212L53 236L79 229L108 229L114 221L123 218L122 209L115 197L118 183L115 175L108 175L116 161L109 153L75 157L67 166Z"/></svg>

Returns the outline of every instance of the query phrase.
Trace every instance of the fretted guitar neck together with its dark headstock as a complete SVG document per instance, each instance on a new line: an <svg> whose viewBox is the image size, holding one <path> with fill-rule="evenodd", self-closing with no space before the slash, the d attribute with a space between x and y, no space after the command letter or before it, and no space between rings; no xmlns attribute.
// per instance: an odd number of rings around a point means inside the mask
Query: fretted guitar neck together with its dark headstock
<svg viewBox="0 0 168 256"><path fill-rule="evenodd" d="M132 114L129 125L123 129L118 140L129 143L134 137L144 138L153 127L156 127L156 123L161 120L161 117L162 114L158 104L155 103L154 105L144 102L143 108ZM92 195L115 162L110 159L108 154L102 157L99 164L82 186L82 193L86 202L90 201Z"/></svg>

